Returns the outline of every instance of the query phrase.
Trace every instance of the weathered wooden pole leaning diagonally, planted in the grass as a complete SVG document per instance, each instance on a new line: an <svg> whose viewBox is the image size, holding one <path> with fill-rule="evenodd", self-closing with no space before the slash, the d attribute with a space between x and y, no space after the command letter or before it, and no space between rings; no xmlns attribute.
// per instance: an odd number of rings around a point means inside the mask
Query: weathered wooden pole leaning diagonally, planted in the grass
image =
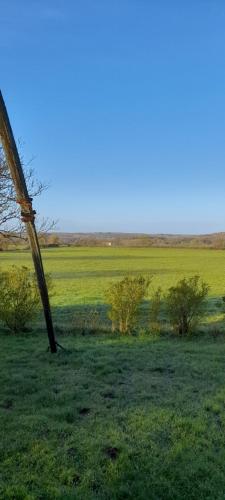
<svg viewBox="0 0 225 500"><path fill-rule="evenodd" d="M21 165L20 157L16 147L13 131L10 125L7 109L0 91L0 139L5 152L7 164L14 183L17 203L21 207L21 218L26 225L27 234L30 242L34 268L37 276L38 287L41 295L46 327L48 332L51 352L57 351L55 340L51 308L49 303L48 288L46 284L44 268L41 258L40 246L35 228L35 211L32 207L32 198L30 198L26 181Z"/></svg>

